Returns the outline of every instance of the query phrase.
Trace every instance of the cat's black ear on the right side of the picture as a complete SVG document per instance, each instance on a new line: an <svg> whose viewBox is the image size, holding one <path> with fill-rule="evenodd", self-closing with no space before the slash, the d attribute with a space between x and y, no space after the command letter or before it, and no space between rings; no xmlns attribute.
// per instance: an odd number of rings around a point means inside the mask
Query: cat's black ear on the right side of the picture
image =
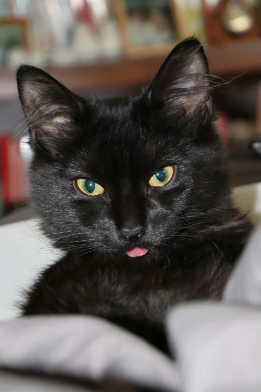
<svg viewBox="0 0 261 392"><path fill-rule="evenodd" d="M168 55L147 97L168 114L182 112L204 121L211 114L210 77L202 45L195 38L180 42Z"/></svg>

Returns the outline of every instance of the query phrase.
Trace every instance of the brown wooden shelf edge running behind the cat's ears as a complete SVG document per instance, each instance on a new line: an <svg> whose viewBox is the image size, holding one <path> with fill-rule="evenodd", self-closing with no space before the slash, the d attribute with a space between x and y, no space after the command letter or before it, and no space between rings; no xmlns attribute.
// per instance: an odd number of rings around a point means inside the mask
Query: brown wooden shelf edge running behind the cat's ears
<svg viewBox="0 0 261 392"><path fill-rule="evenodd" d="M211 74L237 76L261 74L261 40L210 47L206 50ZM128 89L148 83L164 57L121 59L95 64L46 69L54 78L74 91ZM0 72L0 99L17 95L14 72Z"/></svg>

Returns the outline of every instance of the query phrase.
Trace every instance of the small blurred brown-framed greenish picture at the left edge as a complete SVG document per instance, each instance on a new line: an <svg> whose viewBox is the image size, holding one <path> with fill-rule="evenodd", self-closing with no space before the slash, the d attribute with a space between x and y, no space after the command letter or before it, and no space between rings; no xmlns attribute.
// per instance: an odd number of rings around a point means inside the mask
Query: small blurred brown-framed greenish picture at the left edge
<svg viewBox="0 0 261 392"><path fill-rule="evenodd" d="M5 63L7 52L29 47L28 22L24 18L0 18L0 63Z"/></svg>

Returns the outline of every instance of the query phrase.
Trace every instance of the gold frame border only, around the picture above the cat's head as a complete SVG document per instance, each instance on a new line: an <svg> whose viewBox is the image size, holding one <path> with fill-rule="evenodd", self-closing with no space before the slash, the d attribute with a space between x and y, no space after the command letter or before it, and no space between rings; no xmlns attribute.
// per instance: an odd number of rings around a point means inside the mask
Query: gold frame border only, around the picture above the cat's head
<svg viewBox="0 0 261 392"><path fill-rule="evenodd" d="M119 29L122 37L122 45L123 45L123 53L128 58L140 58L140 57L149 57L149 56L164 56L169 53L173 47L177 44L178 41L182 37L185 36L182 24L180 21L182 20L180 16L178 5L174 0L169 0L172 18L174 22L174 26L176 29L177 39L166 43L166 44L156 44L154 46L134 46L129 37L128 28L127 28L127 11L125 7L124 0L114 0L114 10L115 15L118 19Z"/></svg>

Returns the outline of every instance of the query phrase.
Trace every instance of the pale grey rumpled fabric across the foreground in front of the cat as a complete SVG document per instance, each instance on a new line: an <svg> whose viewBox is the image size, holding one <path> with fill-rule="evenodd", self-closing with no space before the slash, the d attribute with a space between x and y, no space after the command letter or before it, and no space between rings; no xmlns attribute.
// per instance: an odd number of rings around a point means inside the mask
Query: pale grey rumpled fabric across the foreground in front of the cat
<svg viewBox="0 0 261 392"><path fill-rule="evenodd" d="M222 302L190 302L170 310L166 328L175 361L96 317L37 316L0 323L0 366L96 380L112 376L155 390L259 392L260 238L261 227L252 234ZM10 379L5 383L5 392L22 391L11 384Z"/></svg>

